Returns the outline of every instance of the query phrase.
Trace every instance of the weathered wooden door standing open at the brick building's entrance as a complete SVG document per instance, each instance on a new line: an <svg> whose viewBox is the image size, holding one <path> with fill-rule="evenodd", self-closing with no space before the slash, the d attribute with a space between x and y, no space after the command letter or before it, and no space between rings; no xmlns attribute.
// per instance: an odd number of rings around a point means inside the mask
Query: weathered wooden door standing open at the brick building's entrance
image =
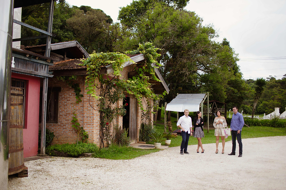
<svg viewBox="0 0 286 190"><path fill-rule="evenodd" d="M136 98L130 98L130 110L129 110L129 137L130 144L136 143Z"/></svg>

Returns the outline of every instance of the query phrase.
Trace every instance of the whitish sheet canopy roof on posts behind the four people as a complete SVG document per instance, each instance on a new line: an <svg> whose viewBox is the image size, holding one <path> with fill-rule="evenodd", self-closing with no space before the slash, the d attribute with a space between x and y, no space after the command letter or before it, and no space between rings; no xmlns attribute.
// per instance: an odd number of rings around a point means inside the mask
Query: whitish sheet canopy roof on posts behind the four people
<svg viewBox="0 0 286 190"><path fill-rule="evenodd" d="M206 94L178 94L170 103L167 104L166 111L184 112L200 111L200 103L205 100Z"/></svg>

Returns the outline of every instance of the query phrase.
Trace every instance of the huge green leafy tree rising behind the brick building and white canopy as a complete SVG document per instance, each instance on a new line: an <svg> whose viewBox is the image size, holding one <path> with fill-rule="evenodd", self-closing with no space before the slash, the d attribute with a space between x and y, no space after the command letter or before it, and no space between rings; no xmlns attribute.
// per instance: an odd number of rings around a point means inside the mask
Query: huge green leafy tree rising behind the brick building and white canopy
<svg viewBox="0 0 286 190"><path fill-rule="evenodd" d="M236 63L238 55L227 39L215 42L218 35L213 26L203 26L194 12L163 1L140 0L122 7L118 18L126 26L126 36L116 42L121 44L116 47L122 48L117 50L147 41L162 49L158 62L170 89L167 102L177 93L205 91L219 101L235 96L230 103L245 97L248 87Z"/></svg>

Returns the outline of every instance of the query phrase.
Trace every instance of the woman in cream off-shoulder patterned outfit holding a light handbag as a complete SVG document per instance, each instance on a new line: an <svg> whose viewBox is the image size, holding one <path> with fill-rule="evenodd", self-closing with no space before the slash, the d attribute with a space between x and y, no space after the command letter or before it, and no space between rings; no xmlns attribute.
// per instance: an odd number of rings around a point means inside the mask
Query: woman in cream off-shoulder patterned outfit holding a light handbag
<svg viewBox="0 0 286 190"><path fill-rule="evenodd" d="M221 129L225 128L227 126L227 121L225 120L225 117L221 116L221 112L217 111L217 117L214 120L213 126L215 127L215 137L216 137L216 146L217 150L215 153L217 154L219 152L218 147L219 147L219 137L221 137L221 142L223 144L223 151L221 154L225 153L225 136L221 133Z"/></svg>

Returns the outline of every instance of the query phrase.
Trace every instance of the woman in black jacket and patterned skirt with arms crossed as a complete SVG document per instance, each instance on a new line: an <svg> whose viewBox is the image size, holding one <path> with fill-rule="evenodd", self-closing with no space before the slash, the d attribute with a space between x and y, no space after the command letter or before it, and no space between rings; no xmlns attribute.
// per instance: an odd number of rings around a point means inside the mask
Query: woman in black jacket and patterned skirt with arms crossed
<svg viewBox="0 0 286 190"><path fill-rule="evenodd" d="M202 126L204 125L204 120L201 118L202 113L200 111L196 112L196 117L194 119L194 137L198 139L198 148L197 153L199 153L199 148L202 149L202 153L204 153L204 148L202 148L202 137L204 137L204 130Z"/></svg>

